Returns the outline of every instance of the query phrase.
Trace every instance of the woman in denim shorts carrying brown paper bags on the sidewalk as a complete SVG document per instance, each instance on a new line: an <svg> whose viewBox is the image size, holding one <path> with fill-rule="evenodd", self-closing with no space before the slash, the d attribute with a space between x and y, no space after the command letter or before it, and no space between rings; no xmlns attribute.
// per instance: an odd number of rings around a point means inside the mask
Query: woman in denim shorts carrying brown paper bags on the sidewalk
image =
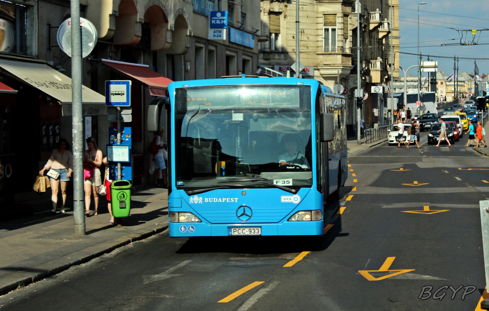
<svg viewBox="0 0 489 311"><path fill-rule="evenodd" d="M59 173L58 178L54 179L49 177L49 184L51 185L51 202L53 203L53 209L51 212L56 212L56 205L58 204L58 190L61 182L61 197L63 198L63 205L61 206L61 213L65 213L66 202L66 186L71 172L73 172L73 155L68 151L69 145L66 139L62 138L59 141L59 148L53 149L51 157L47 161L43 169L39 171L39 175L44 175L46 169L52 169Z"/></svg>

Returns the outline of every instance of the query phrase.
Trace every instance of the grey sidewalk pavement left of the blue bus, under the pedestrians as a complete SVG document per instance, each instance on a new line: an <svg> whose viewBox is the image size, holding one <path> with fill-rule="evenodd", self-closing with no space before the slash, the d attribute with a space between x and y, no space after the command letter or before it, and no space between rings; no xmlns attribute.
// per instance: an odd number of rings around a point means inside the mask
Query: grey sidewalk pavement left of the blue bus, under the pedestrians
<svg viewBox="0 0 489 311"><path fill-rule="evenodd" d="M109 224L107 200L100 201L98 215L85 218L85 236L73 234L71 209L0 223L0 295L168 228L166 189L133 192L123 226Z"/></svg>

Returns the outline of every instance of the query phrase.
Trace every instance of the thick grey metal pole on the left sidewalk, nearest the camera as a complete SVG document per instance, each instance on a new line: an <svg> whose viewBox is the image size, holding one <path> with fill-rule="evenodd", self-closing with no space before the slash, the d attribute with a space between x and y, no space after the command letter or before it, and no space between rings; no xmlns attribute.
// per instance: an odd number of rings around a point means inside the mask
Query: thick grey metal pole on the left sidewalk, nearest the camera
<svg viewBox="0 0 489 311"><path fill-rule="evenodd" d="M71 83L71 109L73 127L73 222L75 234L85 235L80 0L71 0Z"/></svg>

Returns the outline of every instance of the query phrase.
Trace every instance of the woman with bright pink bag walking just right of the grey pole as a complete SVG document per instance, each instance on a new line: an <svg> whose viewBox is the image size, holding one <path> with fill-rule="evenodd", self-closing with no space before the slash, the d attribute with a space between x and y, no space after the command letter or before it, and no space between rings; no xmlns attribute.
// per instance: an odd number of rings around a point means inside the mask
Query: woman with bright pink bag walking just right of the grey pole
<svg viewBox="0 0 489 311"><path fill-rule="evenodd" d="M91 192L93 190L93 203L95 205L95 212L93 213L93 216L97 216L98 187L102 186L102 176L99 169L99 167L102 166L102 151L97 147L97 143L93 137L89 137L85 141L87 142L89 149L85 150L84 162L93 166L93 176L86 178L84 182L85 215L90 216Z"/></svg>

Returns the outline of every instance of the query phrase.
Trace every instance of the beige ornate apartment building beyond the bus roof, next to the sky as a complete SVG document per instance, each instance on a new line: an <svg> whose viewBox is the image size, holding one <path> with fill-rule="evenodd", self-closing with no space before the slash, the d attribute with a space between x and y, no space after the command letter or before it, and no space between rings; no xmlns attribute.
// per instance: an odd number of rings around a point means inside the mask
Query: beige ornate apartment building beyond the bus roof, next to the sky
<svg viewBox="0 0 489 311"><path fill-rule="evenodd" d="M295 62L296 2L261 0L259 62L283 71ZM360 2L360 27L357 1L304 0L299 2L300 62L303 78L316 79L336 90L339 83L347 98L349 134L356 124L354 92L357 87L356 64L361 64L361 87L369 94L361 118L368 127L384 123L387 117L386 94L371 94L372 85L385 85L390 77L389 35L393 31L394 51L399 50L399 2L365 0ZM394 16L390 16L391 7ZM391 26L390 20L395 20ZM357 60L357 29L360 28L360 60ZM399 54L397 54L399 55ZM394 62L394 77L399 77L399 57Z"/></svg>

